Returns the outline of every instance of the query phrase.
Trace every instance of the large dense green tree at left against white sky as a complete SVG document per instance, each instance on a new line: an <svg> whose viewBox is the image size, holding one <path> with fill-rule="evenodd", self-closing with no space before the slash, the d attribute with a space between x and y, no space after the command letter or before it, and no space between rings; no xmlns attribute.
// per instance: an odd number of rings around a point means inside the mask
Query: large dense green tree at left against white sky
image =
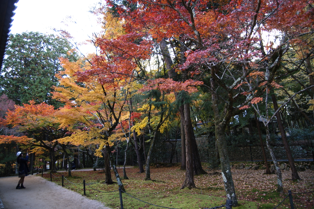
<svg viewBox="0 0 314 209"><path fill-rule="evenodd" d="M58 107L50 98L51 87L57 85L55 74L62 70L60 57L76 59L62 38L39 32L23 32L9 36L6 56L0 74L0 91L16 104L46 102Z"/></svg>

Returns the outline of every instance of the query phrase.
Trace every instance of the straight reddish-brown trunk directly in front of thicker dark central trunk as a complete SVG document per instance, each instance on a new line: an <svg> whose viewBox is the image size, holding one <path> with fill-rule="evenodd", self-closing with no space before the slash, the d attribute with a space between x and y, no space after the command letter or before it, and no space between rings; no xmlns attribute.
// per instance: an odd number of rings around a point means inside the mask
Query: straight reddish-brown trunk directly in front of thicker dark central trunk
<svg viewBox="0 0 314 209"><path fill-rule="evenodd" d="M185 136L186 136L186 166L187 169L185 170L185 180L181 186L181 189L184 189L186 187L195 187L194 184L194 171L193 171L193 154L192 154L192 139L191 139L191 133L193 131L193 127L192 127L192 121L190 118L190 104L184 104L184 118L185 118L185 122L184 122L184 132L185 132ZM190 121L189 121L190 120ZM182 121L181 121L182 123ZM190 125L191 124L191 125ZM194 133L193 133L194 135Z"/></svg>

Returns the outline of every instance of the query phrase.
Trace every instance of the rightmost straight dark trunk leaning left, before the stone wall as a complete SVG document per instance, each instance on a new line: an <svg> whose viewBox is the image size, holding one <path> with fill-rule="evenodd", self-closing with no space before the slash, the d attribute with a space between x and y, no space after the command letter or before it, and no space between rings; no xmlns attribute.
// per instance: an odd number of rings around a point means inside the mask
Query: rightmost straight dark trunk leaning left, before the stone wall
<svg viewBox="0 0 314 209"><path fill-rule="evenodd" d="M277 111L278 110L278 104L277 104L276 96L274 94L272 94L271 96L272 96L272 100L273 100L274 110ZM301 179L298 175L296 168L295 168L294 159L292 157L290 147L288 145L286 132L284 131L284 125L283 125L282 120L281 120L280 110L276 113L276 117L277 117L277 124L279 127L280 135L281 135L282 141L284 143L284 149L286 150L287 158L288 158L288 161L290 164L290 169L292 172L292 180Z"/></svg>

